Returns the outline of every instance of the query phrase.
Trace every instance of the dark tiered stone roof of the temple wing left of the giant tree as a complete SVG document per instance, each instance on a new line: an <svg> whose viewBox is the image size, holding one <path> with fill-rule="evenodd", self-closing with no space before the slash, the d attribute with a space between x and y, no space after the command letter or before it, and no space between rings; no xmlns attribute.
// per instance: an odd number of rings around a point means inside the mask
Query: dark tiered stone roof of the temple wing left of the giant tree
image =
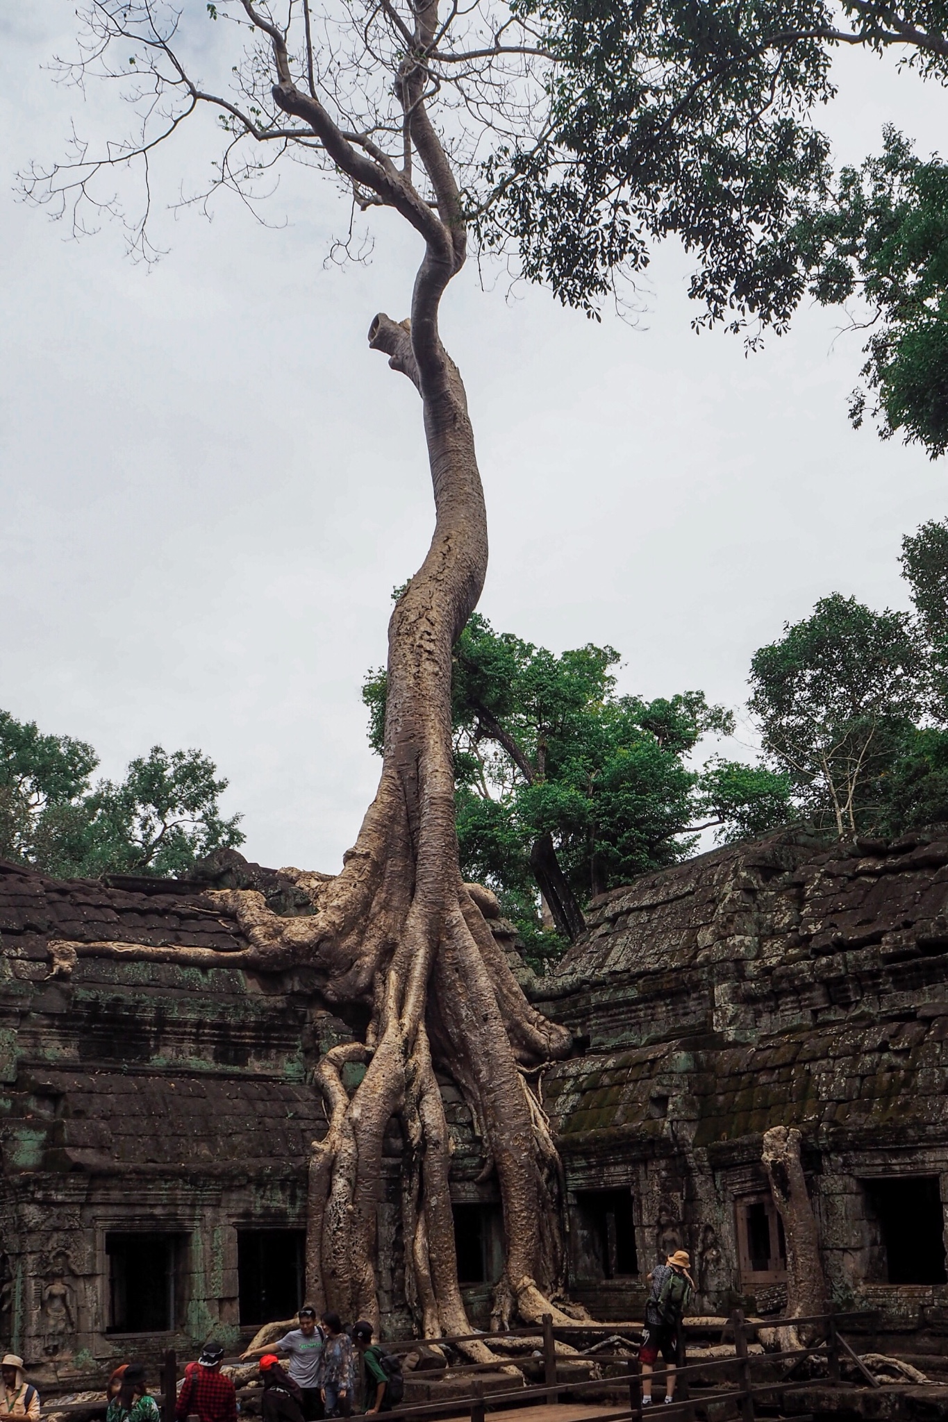
<svg viewBox="0 0 948 1422"><path fill-rule="evenodd" d="M291 890L262 873L271 892ZM4 1173L304 1170L325 1129L307 1047L348 1035L304 973L263 980L102 956L50 977L51 939L243 947L236 920L202 889L61 882L0 862Z"/></svg>

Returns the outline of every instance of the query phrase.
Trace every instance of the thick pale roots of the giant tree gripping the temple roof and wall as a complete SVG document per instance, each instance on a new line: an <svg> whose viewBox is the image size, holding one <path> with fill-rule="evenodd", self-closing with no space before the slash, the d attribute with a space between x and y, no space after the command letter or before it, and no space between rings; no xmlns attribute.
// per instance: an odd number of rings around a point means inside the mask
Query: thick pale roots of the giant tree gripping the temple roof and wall
<svg viewBox="0 0 948 1422"><path fill-rule="evenodd" d="M559 1159L523 1074L523 1068L564 1055L570 1037L526 1001L479 906L496 913L492 896L472 892L458 877L448 892L442 889L436 931L418 912L416 899L406 907L399 931L385 875L367 875L361 857L358 862L360 890L367 879L377 884L364 910L361 948L352 943L360 926L340 912L335 886L321 883L318 899L325 902L331 894L327 909L348 930L341 951L324 931L318 900L313 917L281 920L257 893L215 894L237 916L252 943L249 951L264 957L273 951L283 960L283 933L289 930L294 954L308 940L306 961L324 968L323 990L331 1001L340 1001L345 980L360 985L358 1000L371 1008L365 1041L334 1047L316 1072L328 1129L313 1143L310 1159L307 1293L320 1307L331 1304L344 1317L378 1321L375 1212L382 1190L382 1138L395 1118L405 1140L402 1230L409 1307L424 1337L470 1332L458 1285L448 1182L451 1138L433 1047L470 1108L485 1172L497 1175L507 1254L496 1291L496 1324L506 1327L515 1315L539 1322L544 1313L571 1322L550 1303L563 1283ZM340 879L344 876L345 870ZM388 961L379 951L385 943L394 944ZM365 1065L351 1092L343 1079L350 1062ZM478 1361L493 1357L476 1342L465 1352Z"/></svg>

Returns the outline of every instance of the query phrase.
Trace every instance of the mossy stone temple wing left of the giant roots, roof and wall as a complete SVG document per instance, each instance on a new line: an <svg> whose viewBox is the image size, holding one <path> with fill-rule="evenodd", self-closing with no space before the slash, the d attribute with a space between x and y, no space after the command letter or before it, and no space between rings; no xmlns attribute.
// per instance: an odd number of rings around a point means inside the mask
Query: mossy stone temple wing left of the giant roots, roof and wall
<svg viewBox="0 0 948 1422"><path fill-rule="evenodd" d="M230 857L219 886L310 912L289 880ZM364 1030L364 1011L344 1021L306 970L257 975L102 953L51 975L51 940L243 947L203 887L58 883L0 862L0 1345L40 1379L98 1376L129 1349L193 1355L210 1332L236 1345L254 1331L240 1317L242 1231L306 1226L308 1142L325 1130L313 1068ZM496 1186L476 1179L470 1113L442 1081L458 1199L496 1209ZM379 1295L389 1337L404 1337L398 1130L385 1150ZM155 1234L173 1241L175 1297L169 1327L138 1335L109 1315L108 1247ZM152 1287L159 1294L163 1280ZM489 1290L469 1300L486 1317Z"/></svg>

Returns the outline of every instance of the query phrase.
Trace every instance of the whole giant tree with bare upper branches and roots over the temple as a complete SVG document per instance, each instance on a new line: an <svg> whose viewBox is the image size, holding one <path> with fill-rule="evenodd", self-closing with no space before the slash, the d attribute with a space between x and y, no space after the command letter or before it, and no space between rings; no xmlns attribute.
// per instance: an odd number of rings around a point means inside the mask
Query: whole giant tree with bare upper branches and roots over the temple
<svg viewBox="0 0 948 1422"><path fill-rule="evenodd" d="M316 1072L328 1129L308 1167L308 1287L344 1317L378 1317L375 1210L382 1138L397 1118L411 1185L408 1297L426 1335L470 1331L441 1062L465 1095L503 1202L496 1315L536 1320L551 1310L566 1321L550 1303L561 1280L556 1150L524 1071L563 1057L571 1039L526 1001L490 931L496 902L462 880L458 862L451 648L480 594L488 530L465 388L439 333L442 296L466 253L459 165L492 141L492 128L530 122L542 98L530 74L540 47L489 0L441 11L438 0L338 0L321 16L298 0L217 0L206 6L210 21L227 21L213 51L222 61L215 87L196 73L210 63L195 34L206 20L198 9L179 14L161 0L87 7L77 71L124 85L141 127L99 156L81 149L72 164L34 169L27 188L81 226L87 202L114 202L117 164L146 165L156 144L209 111L223 131L219 183L240 189L296 158L341 182L354 206L392 209L421 249L408 317L377 314L368 331L371 348L421 397L435 502L431 546L389 620L378 791L341 872L297 873L311 916L279 917L253 892L217 900L249 940L227 961L259 971L304 963L324 1000L368 1008L364 1038L334 1047ZM146 250L146 228L129 222ZM289 328L287 341L304 358ZM181 954L216 961L199 948ZM355 1088L343 1074L351 1062L365 1066Z"/></svg>

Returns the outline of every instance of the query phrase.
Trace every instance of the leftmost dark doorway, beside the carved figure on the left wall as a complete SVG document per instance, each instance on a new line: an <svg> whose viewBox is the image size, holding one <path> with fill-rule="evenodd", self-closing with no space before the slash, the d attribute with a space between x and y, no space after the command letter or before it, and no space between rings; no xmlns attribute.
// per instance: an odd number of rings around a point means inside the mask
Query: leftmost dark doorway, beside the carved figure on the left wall
<svg viewBox="0 0 948 1422"><path fill-rule="evenodd" d="M186 1234L107 1234L108 1332L171 1332L183 1317Z"/></svg>

